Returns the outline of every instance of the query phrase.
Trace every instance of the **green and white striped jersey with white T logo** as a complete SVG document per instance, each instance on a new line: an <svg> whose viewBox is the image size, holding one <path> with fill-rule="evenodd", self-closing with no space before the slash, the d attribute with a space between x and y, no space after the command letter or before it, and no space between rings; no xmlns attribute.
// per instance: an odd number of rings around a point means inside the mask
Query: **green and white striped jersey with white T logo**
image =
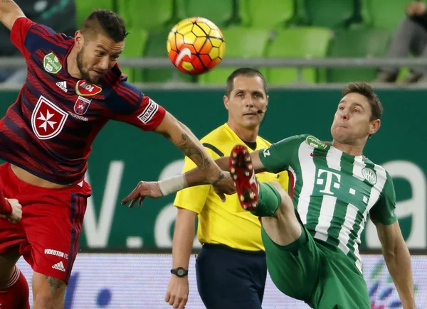
<svg viewBox="0 0 427 309"><path fill-rule="evenodd" d="M274 143L260 159L272 173L288 170L288 193L312 237L338 246L362 271L360 234L368 214L382 224L396 222L389 173L308 134Z"/></svg>

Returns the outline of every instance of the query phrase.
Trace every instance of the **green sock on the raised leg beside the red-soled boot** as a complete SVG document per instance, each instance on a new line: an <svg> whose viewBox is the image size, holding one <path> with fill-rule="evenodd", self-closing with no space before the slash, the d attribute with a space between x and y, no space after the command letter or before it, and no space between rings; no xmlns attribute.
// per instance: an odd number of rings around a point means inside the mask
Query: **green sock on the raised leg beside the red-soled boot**
<svg viewBox="0 0 427 309"><path fill-rule="evenodd" d="M278 190L268 183L260 183L259 186L258 206L251 213L257 217L271 217L278 210L282 197Z"/></svg>

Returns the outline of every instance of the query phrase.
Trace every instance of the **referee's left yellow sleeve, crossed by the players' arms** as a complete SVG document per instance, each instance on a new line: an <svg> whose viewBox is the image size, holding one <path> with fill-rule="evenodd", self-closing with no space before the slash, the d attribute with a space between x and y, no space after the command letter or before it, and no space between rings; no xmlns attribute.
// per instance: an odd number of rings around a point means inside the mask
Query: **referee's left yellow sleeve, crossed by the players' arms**
<svg viewBox="0 0 427 309"><path fill-rule="evenodd" d="M218 154L211 151L211 149L206 148L206 151L209 153L211 158L214 158L214 160L219 158ZM196 167L196 164L191 161L190 158L186 157L184 161L185 163L182 173L186 173ZM176 193L174 205L175 207L191 210L196 212L196 214L199 214L205 205L209 190L211 190L211 185L197 185L195 187L183 189Z"/></svg>

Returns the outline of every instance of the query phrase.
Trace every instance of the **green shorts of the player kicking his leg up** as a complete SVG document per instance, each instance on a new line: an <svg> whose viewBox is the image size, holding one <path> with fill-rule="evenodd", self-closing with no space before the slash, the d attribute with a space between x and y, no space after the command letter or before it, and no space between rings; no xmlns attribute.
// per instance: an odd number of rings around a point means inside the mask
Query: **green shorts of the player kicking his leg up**
<svg viewBox="0 0 427 309"><path fill-rule="evenodd" d="M367 283L335 246L315 241L302 226L299 239L275 244L262 229L267 266L275 286L316 309L371 309Z"/></svg>

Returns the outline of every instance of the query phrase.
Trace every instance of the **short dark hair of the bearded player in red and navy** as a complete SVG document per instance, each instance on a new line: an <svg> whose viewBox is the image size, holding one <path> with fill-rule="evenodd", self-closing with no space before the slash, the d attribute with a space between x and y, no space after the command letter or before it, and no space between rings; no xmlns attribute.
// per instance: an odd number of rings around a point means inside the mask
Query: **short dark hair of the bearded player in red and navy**
<svg viewBox="0 0 427 309"><path fill-rule="evenodd" d="M105 33L106 36L115 41L122 42L129 34L126 31L125 21L115 12L97 9L90 13L83 21L80 31L85 35L97 36L99 33Z"/></svg>

